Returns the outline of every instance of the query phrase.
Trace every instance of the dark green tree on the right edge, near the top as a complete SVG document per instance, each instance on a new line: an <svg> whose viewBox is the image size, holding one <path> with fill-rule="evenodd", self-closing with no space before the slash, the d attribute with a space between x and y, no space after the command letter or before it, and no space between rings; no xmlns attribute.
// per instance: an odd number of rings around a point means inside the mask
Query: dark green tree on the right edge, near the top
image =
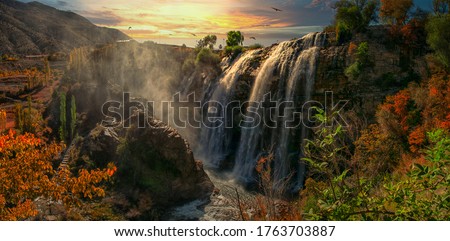
<svg viewBox="0 0 450 241"><path fill-rule="evenodd" d="M450 69L450 14L436 15L427 23L427 42L436 58Z"/></svg>

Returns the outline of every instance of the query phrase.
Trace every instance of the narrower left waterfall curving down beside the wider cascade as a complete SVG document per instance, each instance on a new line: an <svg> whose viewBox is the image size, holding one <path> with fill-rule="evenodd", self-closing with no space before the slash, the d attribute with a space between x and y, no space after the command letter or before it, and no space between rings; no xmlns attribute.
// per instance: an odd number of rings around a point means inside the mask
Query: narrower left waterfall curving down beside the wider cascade
<svg viewBox="0 0 450 241"><path fill-rule="evenodd" d="M202 150L201 156L206 161L206 164L218 168L221 162L230 154L230 144L232 139L232 129L227 128L229 116L225 116L225 107L234 94L234 87L239 76L244 72L245 66L248 65L257 53L257 50L250 50L241 54L231 64L231 66L224 71L218 81L218 85L213 89L209 98L208 117L223 118L221 123L213 123L213 126L203 126L201 130ZM221 107L222 108L221 108ZM218 113L214 113L218 112ZM228 113L229 114L229 113Z"/></svg>

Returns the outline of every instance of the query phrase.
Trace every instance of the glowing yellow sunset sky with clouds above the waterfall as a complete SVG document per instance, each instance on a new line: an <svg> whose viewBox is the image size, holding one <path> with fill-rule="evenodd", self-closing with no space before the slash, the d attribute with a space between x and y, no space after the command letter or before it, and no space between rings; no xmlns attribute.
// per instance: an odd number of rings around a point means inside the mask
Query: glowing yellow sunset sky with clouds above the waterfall
<svg viewBox="0 0 450 241"><path fill-rule="evenodd" d="M29 2L28 0L23 0ZM39 0L114 27L137 40L193 45L207 34L241 30L246 44L265 45L320 31L331 23L334 0ZM431 0L416 0L429 9ZM282 11L272 9L278 8ZM130 29L131 27L131 29ZM194 36L195 35L195 36ZM251 40L249 37L255 37Z"/></svg>

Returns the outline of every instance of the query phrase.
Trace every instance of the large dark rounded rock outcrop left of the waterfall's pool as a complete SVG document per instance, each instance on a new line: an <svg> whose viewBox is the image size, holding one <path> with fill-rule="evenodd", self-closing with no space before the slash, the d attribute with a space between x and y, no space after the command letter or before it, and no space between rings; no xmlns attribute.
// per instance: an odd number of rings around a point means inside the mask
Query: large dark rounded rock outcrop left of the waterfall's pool
<svg viewBox="0 0 450 241"><path fill-rule="evenodd" d="M208 200L214 189L186 140L157 120L150 119L146 128L97 126L76 146L72 166L115 162L116 180L106 201L126 219L159 219L170 207Z"/></svg>

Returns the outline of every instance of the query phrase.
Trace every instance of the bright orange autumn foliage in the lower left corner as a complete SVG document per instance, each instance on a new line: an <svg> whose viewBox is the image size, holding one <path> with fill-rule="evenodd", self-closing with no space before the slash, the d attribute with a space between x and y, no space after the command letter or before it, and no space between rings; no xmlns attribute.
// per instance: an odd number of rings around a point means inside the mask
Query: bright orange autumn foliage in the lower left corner
<svg viewBox="0 0 450 241"><path fill-rule="evenodd" d="M58 144L46 144L32 134L18 135L10 130L0 136L0 220L24 220L38 213L33 200L38 197L61 200L66 206L83 198L103 197L102 184L115 167L81 170L78 176L68 170L56 171L52 163L61 153Z"/></svg>

